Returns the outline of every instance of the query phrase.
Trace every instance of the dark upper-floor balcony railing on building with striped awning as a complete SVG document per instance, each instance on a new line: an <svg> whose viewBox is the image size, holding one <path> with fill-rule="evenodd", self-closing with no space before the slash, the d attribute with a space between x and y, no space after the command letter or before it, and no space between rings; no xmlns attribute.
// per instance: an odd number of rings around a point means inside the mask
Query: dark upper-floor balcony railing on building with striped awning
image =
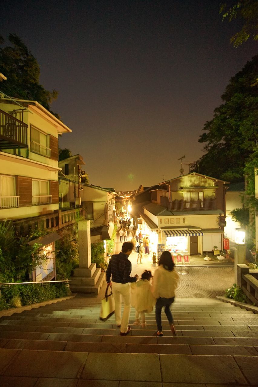
<svg viewBox="0 0 258 387"><path fill-rule="evenodd" d="M207 211L216 209L216 199L171 200L170 211Z"/></svg>

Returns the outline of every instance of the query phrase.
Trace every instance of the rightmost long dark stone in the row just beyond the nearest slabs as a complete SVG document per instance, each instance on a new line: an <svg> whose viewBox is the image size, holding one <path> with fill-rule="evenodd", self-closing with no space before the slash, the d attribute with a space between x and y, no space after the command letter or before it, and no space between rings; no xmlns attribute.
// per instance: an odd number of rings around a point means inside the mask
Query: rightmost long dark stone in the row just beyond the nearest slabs
<svg viewBox="0 0 258 387"><path fill-rule="evenodd" d="M258 356L254 347L234 345L190 345L193 355Z"/></svg>

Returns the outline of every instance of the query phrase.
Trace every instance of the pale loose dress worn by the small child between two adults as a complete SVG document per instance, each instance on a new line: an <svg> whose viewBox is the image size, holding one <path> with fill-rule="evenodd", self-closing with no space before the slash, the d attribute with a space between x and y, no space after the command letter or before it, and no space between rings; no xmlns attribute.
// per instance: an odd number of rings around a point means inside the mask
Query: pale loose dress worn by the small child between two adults
<svg viewBox="0 0 258 387"><path fill-rule="evenodd" d="M156 303L151 292L151 284L148 279L140 279L131 283L131 305L138 312L150 313Z"/></svg>

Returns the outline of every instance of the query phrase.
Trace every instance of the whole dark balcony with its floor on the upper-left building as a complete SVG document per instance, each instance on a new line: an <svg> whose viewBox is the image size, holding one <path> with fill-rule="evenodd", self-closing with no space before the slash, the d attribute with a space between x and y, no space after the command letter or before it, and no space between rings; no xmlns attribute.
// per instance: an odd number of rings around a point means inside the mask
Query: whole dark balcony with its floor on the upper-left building
<svg viewBox="0 0 258 387"><path fill-rule="evenodd" d="M0 149L28 148L28 125L0 110Z"/></svg>

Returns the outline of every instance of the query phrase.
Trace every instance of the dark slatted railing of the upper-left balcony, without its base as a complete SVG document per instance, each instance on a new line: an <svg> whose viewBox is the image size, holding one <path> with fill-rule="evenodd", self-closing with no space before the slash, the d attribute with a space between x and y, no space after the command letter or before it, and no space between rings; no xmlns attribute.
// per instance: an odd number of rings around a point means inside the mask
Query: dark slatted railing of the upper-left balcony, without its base
<svg viewBox="0 0 258 387"><path fill-rule="evenodd" d="M0 138L28 147L27 132L26 123L0 110Z"/></svg>

